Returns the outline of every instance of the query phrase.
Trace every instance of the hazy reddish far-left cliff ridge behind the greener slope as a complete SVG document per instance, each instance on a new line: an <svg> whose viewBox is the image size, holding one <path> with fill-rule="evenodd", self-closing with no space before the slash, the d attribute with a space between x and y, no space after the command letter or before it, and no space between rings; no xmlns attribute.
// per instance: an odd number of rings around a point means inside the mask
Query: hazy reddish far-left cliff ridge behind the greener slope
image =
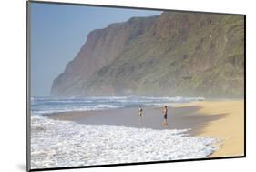
<svg viewBox="0 0 256 172"><path fill-rule="evenodd" d="M89 33L87 43L81 47L76 58L54 80L51 95L85 95L88 77L117 58L129 41L147 32L155 18L131 18L126 23L111 24Z"/></svg>

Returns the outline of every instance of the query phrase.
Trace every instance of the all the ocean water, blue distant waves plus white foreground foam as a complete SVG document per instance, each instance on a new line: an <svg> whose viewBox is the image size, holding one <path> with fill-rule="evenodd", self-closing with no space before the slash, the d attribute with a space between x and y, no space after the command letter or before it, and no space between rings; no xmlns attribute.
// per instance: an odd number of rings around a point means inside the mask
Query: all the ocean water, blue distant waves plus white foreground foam
<svg viewBox="0 0 256 172"><path fill-rule="evenodd" d="M31 99L31 167L79 167L208 157L218 139L190 137L189 128L154 130L83 125L40 116L72 110L162 106L195 101L182 97L90 97Z"/></svg>

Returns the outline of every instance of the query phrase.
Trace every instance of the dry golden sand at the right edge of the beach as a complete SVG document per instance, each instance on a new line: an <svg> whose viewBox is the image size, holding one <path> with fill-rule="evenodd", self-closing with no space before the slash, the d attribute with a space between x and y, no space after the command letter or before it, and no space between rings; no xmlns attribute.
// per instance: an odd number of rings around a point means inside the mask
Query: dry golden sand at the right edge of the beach
<svg viewBox="0 0 256 172"><path fill-rule="evenodd" d="M244 155L244 101L193 102L177 105L184 108L200 106L196 112L202 116L224 115L203 127L200 136L218 137L221 147L210 157L235 157Z"/></svg>

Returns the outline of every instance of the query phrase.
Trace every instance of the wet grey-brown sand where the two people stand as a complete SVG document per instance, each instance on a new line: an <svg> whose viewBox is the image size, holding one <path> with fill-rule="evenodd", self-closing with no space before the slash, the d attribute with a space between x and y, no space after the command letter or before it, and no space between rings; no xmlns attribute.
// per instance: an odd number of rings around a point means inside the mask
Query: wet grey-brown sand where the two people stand
<svg viewBox="0 0 256 172"><path fill-rule="evenodd" d="M45 115L51 119L73 121L86 125L114 125L151 129L189 129L190 136L198 136L204 126L212 120L224 115L201 116L196 112L200 106L170 107L168 124L164 124L161 107L143 107L143 115L138 116L138 108L125 107L119 109L60 112Z"/></svg>

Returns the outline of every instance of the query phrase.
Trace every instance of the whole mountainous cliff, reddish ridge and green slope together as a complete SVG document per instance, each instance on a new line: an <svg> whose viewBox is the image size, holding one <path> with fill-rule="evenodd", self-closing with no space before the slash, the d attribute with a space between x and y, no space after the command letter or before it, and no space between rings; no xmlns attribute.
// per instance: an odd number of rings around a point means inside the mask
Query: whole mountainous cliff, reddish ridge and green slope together
<svg viewBox="0 0 256 172"><path fill-rule="evenodd" d="M241 15L164 12L92 31L53 96L242 96Z"/></svg>

